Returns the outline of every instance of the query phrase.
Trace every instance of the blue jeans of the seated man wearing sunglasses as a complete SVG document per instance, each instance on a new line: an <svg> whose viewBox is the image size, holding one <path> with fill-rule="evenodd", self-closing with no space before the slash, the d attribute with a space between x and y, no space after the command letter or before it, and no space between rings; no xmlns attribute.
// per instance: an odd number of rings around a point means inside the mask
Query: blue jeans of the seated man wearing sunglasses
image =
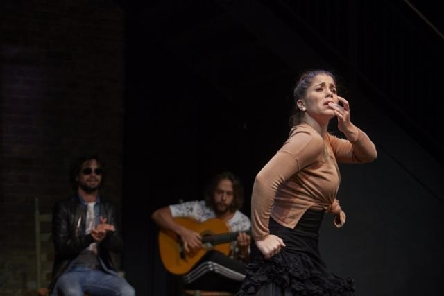
<svg viewBox="0 0 444 296"><path fill-rule="evenodd" d="M135 290L128 282L103 270L76 266L61 275L51 296L135 296Z"/></svg>

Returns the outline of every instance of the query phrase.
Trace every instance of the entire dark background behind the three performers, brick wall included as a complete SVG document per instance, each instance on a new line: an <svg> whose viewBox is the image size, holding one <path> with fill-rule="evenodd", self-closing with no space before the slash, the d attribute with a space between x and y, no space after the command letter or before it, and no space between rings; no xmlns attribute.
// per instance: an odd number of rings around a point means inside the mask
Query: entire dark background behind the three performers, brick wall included
<svg viewBox="0 0 444 296"><path fill-rule="evenodd" d="M122 208L122 266L137 295L178 295L151 213L198 200L210 178L257 172L280 148L295 80L328 69L378 159L341 165L348 215L321 253L357 295L438 295L443 245L443 24L422 1L6 1L0 295L31 295L33 198L99 150ZM412 6L413 5L413 6ZM427 21L423 19L425 17ZM336 131L334 121L330 125ZM17 218L18 217L18 218ZM6 259L7 258L7 259Z"/></svg>

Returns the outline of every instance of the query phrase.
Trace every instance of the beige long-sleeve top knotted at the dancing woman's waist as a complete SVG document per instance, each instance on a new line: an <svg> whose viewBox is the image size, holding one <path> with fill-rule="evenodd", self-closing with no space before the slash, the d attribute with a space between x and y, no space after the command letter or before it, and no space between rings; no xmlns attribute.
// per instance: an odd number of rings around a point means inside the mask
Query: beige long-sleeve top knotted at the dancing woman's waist
<svg viewBox="0 0 444 296"><path fill-rule="evenodd" d="M323 139L307 124L293 127L289 139L256 176L251 198L253 238L269 234L270 216L293 228L307 209L334 207L341 182L337 163L370 162L376 157L375 145L361 130L350 142L328 133Z"/></svg>

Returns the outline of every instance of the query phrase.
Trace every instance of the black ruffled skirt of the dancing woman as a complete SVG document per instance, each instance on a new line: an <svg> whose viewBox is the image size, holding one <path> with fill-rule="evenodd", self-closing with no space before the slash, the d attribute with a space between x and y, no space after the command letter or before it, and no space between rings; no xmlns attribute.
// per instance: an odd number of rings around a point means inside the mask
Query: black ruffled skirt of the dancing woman
<svg viewBox="0 0 444 296"><path fill-rule="evenodd" d="M350 296L352 279L328 272L318 248L323 211L308 210L294 229L270 219L270 233L279 236L286 247L271 259L262 254L246 266L247 275L237 295L264 296Z"/></svg>

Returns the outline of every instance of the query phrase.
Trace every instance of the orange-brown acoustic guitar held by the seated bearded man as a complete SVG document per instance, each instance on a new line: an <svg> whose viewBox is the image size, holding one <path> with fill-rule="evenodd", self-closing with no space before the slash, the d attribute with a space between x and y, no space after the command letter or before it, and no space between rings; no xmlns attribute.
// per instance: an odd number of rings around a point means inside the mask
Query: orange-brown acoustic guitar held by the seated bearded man
<svg viewBox="0 0 444 296"><path fill-rule="evenodd" d="M174 218L174 220L202 236L202 247L193 254L187 254L180 236L169 229L160 229L160 259L164 267L175 275L185 275L209 250L217 250L228 256L230 242L236 241L239 234L239 232L229 232L227 225L218 218L204 222L194 218Z"/></svg>

